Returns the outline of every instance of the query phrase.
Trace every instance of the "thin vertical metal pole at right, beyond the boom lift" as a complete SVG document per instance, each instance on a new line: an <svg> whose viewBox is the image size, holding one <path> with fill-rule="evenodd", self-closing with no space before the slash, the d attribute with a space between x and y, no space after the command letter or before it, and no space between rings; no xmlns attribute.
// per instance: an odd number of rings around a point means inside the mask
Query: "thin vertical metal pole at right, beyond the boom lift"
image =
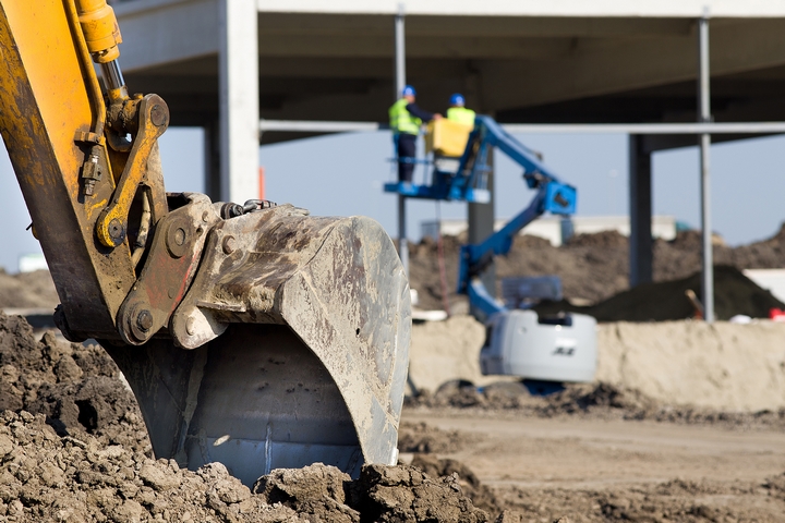
<svg viewBox="0 0 785 523"><path fill-rule="evenodd" d="M711 94L709 90L709 10L698 21L699 60L699 119L701 123L711 122ZM714 265L712 259L711 231L711 185L709 179L709 153L711 135L700 135L701 171L701 234L703 240L703 318L714 321Z"/></svg>

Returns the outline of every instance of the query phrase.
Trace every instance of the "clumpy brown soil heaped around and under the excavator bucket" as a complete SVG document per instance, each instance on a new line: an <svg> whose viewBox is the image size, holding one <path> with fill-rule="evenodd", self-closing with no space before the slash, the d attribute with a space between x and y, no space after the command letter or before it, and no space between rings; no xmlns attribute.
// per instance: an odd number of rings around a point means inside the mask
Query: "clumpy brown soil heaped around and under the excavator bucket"
<svg viewBox="0 0 785 523"><path fill-rule="evenodd" d="M23 318L2 313L0 373L2 521L488 520L472 503L487 506L487 491L457 462L433 475L367 465L357 481L322 464L277 470L252 491L219 463L191 472L156 461L136 402L102 349L51 333L37 341Z"/></svg>

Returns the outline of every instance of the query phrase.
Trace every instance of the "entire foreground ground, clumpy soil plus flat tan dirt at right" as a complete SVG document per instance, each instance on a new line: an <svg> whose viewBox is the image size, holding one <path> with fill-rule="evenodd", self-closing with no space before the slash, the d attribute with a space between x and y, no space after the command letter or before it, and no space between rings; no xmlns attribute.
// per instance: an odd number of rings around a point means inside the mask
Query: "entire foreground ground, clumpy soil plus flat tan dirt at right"
<svg viewBox="0 0 785 523"><path fill-rule="evenodd" d="M785 409L671 406L609 385L447 384L404 408L397 466L316 464L247 488L155 460L97 346L0 314L0 522L782 521ZM31 413L29 411L33 411Z"/></svg>

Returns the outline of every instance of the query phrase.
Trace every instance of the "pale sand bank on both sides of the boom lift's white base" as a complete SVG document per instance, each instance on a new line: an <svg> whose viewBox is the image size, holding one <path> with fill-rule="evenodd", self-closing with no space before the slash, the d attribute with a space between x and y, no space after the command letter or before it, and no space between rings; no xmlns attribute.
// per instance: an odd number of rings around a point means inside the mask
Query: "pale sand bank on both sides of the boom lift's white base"
<svg viewBox="0 0 785 523"><path fill-rule="evenodd" d="M456 380L487 386L502 376L480 374L483 326L470 316L414 325L410 375L419 389L436 391ZM597 326L595 379L639 390L661 404L754 412L785 408L785 325L758 321L608 323ZM506 398L502 385L488 390ZM457 398L457 397L456 397ZM454 401L454 400L450 400ZM464 400L474 404L473 396ZM496 404L496 403L494 403Z"/></svg>

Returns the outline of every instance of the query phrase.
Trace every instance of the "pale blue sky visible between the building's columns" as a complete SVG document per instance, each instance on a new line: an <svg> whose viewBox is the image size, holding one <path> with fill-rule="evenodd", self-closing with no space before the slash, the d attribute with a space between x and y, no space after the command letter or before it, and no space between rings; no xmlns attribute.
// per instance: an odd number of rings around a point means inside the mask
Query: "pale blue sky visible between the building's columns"
<svg viewBox="0 0 785 523"><path fill-rule="evenodd" d="M539 150L564 182L578 188L578 216L626 215L628 168L626 135L517 135ZM160 138L167 191L204 191L202 131L170 127ZM420 144L422 154L422 144ZM397 203L382 185L395 180L388 132L328 135L259 148L268 199L291 203L313 215L370 216L397 236ZM512 217L533 193L526 188L521 169L496 154L496 216ZM422 180L420 169L415 180ZM713 145L711 149L712 229L730 245L773 235L785 221L785 136ZM653 156L655 215L675 216L700 227L698 148L687 147ZM460 203L408 203L408 238L420 239L422 221L466 218ZM29 214L4 148L0 150L0 220L3 248L0 267L17 271L19 257L39 253L25 228Z"/></svg>

